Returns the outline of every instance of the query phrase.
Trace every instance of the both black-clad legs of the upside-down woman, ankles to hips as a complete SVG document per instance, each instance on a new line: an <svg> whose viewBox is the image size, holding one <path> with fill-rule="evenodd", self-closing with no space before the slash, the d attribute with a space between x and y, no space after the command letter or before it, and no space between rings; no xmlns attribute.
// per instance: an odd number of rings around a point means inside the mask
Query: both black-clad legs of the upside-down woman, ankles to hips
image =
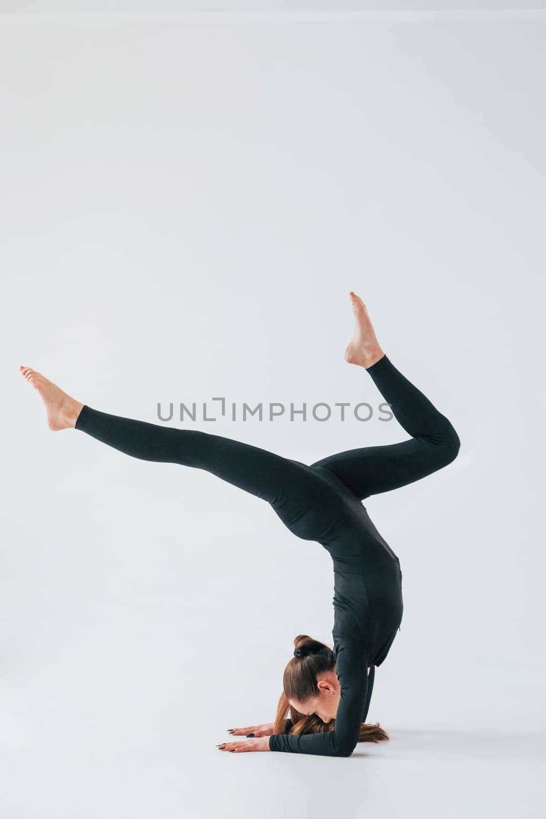
<svg viewBox="0 0 546 819"><path fill-rule="evenodd" d="M335 482L324 479L325 471L363 500L435 472L455 458L460 446L449 420L386 355L367 373L411 438L347 450L310 466L232 438L123 418L88 405L75 428L133 458L205 469L267 501L297 536L320 540L341 499Z"/></svg>

